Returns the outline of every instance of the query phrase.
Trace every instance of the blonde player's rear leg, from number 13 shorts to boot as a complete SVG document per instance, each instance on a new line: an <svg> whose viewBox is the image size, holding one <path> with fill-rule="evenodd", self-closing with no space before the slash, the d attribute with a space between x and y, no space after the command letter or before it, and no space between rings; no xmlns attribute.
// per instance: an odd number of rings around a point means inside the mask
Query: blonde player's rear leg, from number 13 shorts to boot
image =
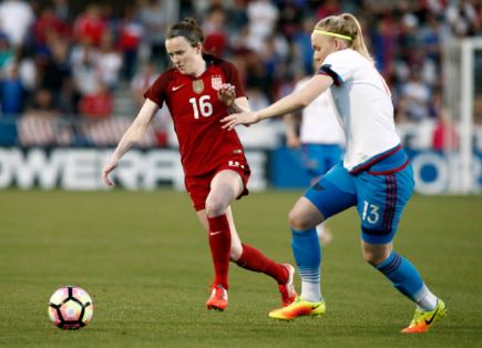
<svg viewBox="0 0 482 348"><path fill-rule="evenodd" d="M356 185L363 258L417 304L416 317L403 332L424 332L445 314L445 306L429 290L417 268L393 250L392 244L413 191L411 167L389 174L363 172L357 176Z"/></svg>

